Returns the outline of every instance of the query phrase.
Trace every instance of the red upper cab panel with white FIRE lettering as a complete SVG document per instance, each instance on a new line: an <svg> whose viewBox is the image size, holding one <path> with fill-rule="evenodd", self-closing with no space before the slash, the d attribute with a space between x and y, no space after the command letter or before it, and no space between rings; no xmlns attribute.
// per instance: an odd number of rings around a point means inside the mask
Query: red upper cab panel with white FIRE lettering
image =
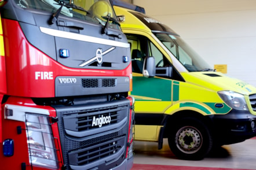
<svg viewBox="0 0 256 170"><path fill-rule="evenodd" d="M54 95L51 94L54 94L54 89L49 88L54 86L51 73L56 65L53 60L27 43L16 21L6 19L2 21L8 70L8 95L53 97ZM35 77L37 72L42 77Z"/></svg>

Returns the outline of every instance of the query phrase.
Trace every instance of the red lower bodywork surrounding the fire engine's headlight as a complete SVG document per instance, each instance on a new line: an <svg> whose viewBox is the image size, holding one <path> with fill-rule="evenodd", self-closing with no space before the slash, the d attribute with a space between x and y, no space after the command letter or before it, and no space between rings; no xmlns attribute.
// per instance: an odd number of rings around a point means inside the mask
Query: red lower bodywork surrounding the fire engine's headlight
<svg viewBox="0 0 256 170"><path fill-rule="evenodd" d="M29 98L22 97L9 97L6 101L9 105L19 106L19 107L27 107L27 112L33 112L33 108L40 108L49 111L52 118L56 117L56 111L52 107L49 106L38 106L34 104L34 102ZM2 110L5 108L2 105ZM21 114L21 111L18 111ZM19 115L13 115L13 117ZM12 117L12 116L10 116ZM21 116L19 116L21 118ZM13 139L14 143L14 154L10 157L5 157L3 154L0 154L0 169L22 169L21 167L25 167L26 170L30 169L42 169L38 167L31 167L28 155L28 143L27 143L27 134L26 134L26 125L23 121L17 121L12 119L6 119L2 114L2 126L5 128L3 130L4 139ZM24 118L25 120L25 118ZM52 124L52 130L55 138L55 145L57 150L58 160L61 161L61 146L58 133L57 123ZM0 147L0 152L3 153L3 147Z"/></svg>

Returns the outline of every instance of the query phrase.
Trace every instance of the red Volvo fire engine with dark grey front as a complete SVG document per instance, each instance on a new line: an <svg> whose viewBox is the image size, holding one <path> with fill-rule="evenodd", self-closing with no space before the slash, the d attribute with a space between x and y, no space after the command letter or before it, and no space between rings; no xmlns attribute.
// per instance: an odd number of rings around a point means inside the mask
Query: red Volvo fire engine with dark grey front
<svg viewBox="0 0 256 170"><path fill-rule="evenodd" d="M0 6L1 169L130 169L130 46L111 2Z"/></svg>

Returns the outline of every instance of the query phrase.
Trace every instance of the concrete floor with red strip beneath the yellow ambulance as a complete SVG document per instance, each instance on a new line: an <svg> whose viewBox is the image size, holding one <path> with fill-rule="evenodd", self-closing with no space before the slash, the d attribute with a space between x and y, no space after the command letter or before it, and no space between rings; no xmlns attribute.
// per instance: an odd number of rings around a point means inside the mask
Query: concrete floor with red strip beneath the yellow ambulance
<svg viewBox="0 0 256 170"><path fill-rule="evenodd" d="M161 150L158 150L156 142L134 141L133 163L131 170L256 169L256 138L224 145L200 161L179 160L171 153L167 139Z"/></svg>

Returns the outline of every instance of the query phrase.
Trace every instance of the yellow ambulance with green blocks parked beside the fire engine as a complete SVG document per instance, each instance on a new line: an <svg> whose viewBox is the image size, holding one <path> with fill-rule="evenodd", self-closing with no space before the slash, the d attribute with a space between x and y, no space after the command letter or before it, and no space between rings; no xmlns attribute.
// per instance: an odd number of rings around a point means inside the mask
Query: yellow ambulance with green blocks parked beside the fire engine
<svg viewBox="0 0 256 170"><path fill-rule="evenodd" d="M211 69L181 37L144 13L114 6L131 47L135 140L168 139L178 158L255 137L256 88Z"/></svg>

